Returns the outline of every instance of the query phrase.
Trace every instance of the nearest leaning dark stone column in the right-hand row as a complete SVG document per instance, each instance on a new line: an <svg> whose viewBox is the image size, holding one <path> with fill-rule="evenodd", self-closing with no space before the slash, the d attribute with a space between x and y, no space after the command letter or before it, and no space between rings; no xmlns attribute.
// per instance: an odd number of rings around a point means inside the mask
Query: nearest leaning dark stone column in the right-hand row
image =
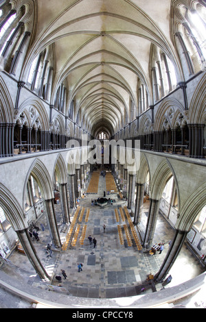
<svg viewBox="0 0 206 322"><path fill-rule="evenodd" d="M181 230L175 231L174 238L170 243L170 248L165 256L163 264L161 265L159 272L155 274L156 282L163 281L165 279L166 275L168 274L172 265L174 264L177 256L179 255L179 252L181 251L187 233L188 232L182 232Z"/></svg>

